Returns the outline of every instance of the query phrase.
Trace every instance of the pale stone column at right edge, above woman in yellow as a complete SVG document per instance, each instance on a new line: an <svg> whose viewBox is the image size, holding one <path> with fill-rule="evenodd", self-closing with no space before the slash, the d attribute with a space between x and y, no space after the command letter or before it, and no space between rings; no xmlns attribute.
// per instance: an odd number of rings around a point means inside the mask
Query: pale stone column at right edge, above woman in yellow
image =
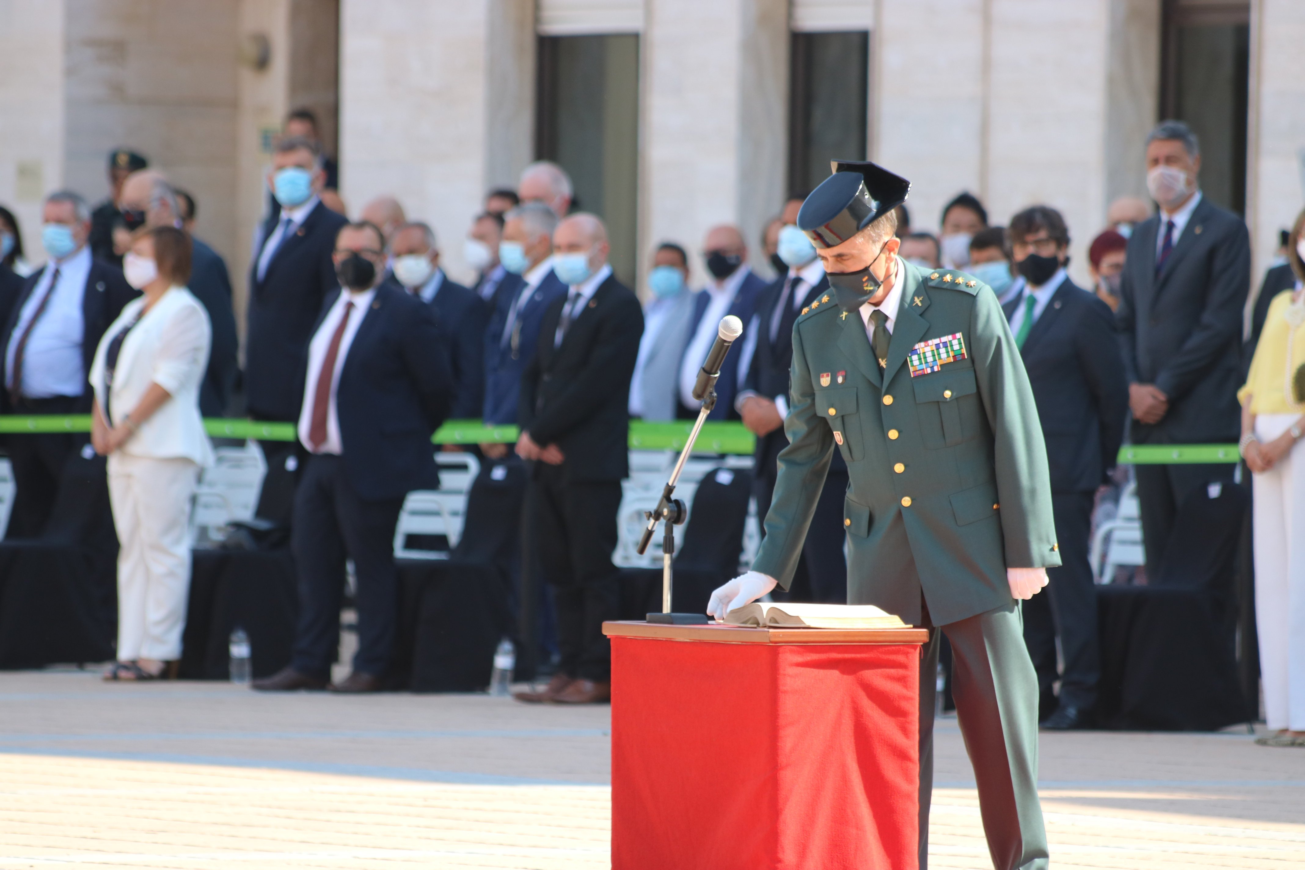
<svg viewBox="0 0 1305 870"><path fill-rule="evenodd" d="M1250 141L1246 220L1253 249L1251 295L1305 197L1305 4L1251 3Z"/></svg>

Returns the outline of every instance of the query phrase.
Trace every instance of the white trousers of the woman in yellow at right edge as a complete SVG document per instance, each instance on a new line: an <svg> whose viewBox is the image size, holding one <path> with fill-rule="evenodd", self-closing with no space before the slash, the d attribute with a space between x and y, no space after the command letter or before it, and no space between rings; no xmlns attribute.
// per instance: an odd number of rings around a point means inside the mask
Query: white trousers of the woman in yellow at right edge
<svg viewBox="0 0 1305 870"><path fill-rule="evenodd" d="M1297 413L1262 413L1255 434L1268 442ZM1268 728L1305 730L1305 446L1254 475L1255 630Z"/></svg>

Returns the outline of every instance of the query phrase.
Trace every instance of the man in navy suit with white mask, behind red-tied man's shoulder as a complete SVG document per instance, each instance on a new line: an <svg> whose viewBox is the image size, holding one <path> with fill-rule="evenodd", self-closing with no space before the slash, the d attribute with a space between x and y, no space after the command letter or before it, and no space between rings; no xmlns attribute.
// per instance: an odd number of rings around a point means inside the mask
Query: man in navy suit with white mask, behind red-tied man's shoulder
<svg viewBox="0 0 1305 870"><path fill-rule="evenodd" d="M435 231L424 223L406 223L390 239L394 280L435 308L449 335L454 398L452 417L480 416L485 391L485 327L489 307L472 291L450 280L440 269Z"/></svg>

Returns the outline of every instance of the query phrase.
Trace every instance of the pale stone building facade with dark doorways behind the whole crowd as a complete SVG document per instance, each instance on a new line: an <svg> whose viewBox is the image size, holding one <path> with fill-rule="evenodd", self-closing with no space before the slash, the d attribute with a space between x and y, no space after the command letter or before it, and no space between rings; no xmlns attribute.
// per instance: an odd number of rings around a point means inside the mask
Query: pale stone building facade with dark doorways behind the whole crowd
<svg viewBox="0 0 1305 870"><path fill-rule="evenodd" d="M1061 209L1083 279L1181 110L1258 275L1302 203L1302 44L1300 0L0 0L0 203L39 258L42 194L102 198L104 155L133 147L194 193L243 293L269 143L307 104L350 209L395 194L458 278L484 192L536 157L568 164L628 277L720 222L765 271L786 193L868 157L912 180L916 228L960 190L994 223Z"/></svg>

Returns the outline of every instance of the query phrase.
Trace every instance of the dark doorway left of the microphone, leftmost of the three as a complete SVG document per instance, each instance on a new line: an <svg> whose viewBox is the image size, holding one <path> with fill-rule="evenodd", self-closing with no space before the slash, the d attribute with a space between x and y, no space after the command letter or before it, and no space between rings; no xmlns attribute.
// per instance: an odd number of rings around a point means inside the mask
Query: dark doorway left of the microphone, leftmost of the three
<svg viewBox="0 0 1305 870"><path fill-rule="evenodd" d="M603 218L616 277L634 286L639 38L540 37L535 155L572 177L578 211Z"/></svg>

